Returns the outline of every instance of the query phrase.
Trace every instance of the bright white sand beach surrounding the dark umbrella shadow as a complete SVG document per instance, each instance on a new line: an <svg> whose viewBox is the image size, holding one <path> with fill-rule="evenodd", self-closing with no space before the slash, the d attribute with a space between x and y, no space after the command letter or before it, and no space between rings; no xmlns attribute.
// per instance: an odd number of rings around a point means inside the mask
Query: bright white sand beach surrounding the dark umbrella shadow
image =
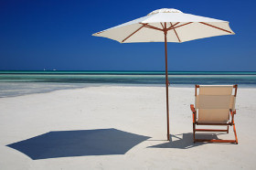
<svg viewBox="0 0 256 170"><path fill-rule="evenodd" d="M169 90L171 143L165 141L164 87L102 86L2 98L0 169L256 168L256 89L238 90L235 122L239 144L192 143L189 104L194 103L194 89ZM5 146L51 131L107 128L151 138L126 154L38 160ZM232 129L218 137L233 138Z"/></svg>

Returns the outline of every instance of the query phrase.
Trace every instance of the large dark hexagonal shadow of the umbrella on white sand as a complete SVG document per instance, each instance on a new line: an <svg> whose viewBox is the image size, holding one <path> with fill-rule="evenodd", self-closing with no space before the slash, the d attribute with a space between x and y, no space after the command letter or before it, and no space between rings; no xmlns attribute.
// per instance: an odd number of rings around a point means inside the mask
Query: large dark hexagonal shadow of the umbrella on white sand
<svg viewBox="0 0 256 170"><path fill-rule="evenodd" d="M37 160L70 156L125 154L135 145L149 138L117 129L53 131L7 146L27 154L33 160Z"/></svg>

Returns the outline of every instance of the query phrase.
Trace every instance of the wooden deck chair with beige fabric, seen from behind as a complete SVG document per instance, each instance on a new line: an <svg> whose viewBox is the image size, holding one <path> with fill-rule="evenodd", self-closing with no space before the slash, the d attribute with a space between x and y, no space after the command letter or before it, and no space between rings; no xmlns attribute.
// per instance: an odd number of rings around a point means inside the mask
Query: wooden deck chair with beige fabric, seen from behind
<svg viewBox="0 0 256 170"><path fill-rule="evenodd" d="M235 102L238 85L196 85L195 107L190 105L193 112L193 138L196 142L209 143L238 143L234 115L236 114ZM197 93L197 89L199 89ZM222 125L227 126L227 130L219 129L197 129L196 125ZM229 126L233 126L235 140L217 139L196 139L196 132L227 132Z"/></svg>

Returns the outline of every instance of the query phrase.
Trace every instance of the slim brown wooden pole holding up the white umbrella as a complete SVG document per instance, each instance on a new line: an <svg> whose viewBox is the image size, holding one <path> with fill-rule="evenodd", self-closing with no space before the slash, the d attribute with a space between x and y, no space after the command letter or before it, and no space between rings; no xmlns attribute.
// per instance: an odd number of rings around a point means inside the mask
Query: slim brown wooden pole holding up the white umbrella
<svg viewBox="0 0 256 170"><path fill-rule="evenodd" d="M169 132L169 91L168 91L168 63L167 63L167 30L166 23L164 28L165 34L165 86L166 86L166 119L167 119L167 140L170 141L170 132Z"/></svg>

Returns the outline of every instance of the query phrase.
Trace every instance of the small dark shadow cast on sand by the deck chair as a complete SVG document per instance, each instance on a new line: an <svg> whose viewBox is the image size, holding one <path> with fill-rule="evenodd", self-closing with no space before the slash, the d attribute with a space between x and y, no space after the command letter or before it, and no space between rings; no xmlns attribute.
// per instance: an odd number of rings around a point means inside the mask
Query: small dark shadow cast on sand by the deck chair
<svg viewBox="0 0 256 170"><path fill-rule="evenodd" d="M196 138L200 139L219 139L218 135L223 133L197 133ZM168 143L160 143L148 148L177 148L177 149L189 149L197 147L206 143L193 143L193 133L181 133L181 134L171 134L171 141ZM154 140L152 140L154 141Z"/></svg>

